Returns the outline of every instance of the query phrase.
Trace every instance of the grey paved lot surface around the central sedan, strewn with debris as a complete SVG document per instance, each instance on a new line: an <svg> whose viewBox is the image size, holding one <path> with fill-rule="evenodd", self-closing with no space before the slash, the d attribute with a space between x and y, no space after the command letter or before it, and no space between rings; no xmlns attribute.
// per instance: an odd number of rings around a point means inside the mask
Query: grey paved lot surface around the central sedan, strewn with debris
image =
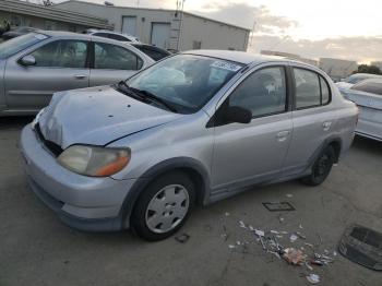
<svg viewBox="0 0 382 286"><path fill-rule="evenodd" d="M130 231L91 234L60 223L28 190L17 150L32 118L0 118L0 286L5 285L319 285L381 286L382 274L333 255L345 228L358 223L382 230L382 143L357 138L329 179L311 188L298 181L258 187L194 210L180 234L146 242ZM268 212L262 202L287 201L296 211ZM300 231L334 263L288 265L265 253L239 221L263 230ZM302 228L300 228L300 225ZM226 234L227 237L222 235ZM237 241L246 248L229 248Z"/></svg>

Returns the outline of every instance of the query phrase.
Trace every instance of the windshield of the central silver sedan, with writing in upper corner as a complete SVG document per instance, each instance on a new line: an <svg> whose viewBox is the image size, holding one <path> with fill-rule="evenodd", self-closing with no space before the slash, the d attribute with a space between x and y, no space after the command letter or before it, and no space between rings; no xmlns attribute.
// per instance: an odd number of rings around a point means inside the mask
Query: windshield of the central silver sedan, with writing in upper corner
<svg viewBox="0 0 382 286"><path fill-rule="evenodd" d="M177 55L128 80L135 90L148 92L192 114L205 105L243 65L210 57Z"/></svg>

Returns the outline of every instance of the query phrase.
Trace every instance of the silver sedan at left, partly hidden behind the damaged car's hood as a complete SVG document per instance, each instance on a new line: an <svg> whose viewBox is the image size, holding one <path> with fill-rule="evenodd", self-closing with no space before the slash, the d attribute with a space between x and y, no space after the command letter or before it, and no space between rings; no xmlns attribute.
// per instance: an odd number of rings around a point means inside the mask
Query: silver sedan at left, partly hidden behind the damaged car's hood
<svg viewBox="0 0 382 286"><path fill-rule="evenodd" d="M0 116L37 114L56 92L117 83L153 62L130 45L89 35L10 39L0 44Z"/></svg>

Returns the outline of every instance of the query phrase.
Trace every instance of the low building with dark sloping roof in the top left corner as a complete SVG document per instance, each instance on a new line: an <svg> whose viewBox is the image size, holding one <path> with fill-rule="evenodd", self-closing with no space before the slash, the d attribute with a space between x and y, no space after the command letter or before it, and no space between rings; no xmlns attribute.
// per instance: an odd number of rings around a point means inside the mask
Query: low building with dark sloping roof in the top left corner
<svg viewBox="0 0 382 286"><path fill-rule="evenodd" d="M19 0L0 0L0 24L4 21L10 23L11 28L29 26L71 32L82 32L89 27L112 28L107 20L98 16Z"/></svg>

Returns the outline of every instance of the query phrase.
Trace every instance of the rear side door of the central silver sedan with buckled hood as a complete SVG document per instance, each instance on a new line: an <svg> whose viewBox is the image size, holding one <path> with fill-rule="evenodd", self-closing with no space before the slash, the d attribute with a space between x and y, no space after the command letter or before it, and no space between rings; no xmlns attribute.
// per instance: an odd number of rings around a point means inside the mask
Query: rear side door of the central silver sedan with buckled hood
<svg viewBox="0 0 382 286"><path fill-rule="evenodd" d="M291 67L294 85L294 136L285 162L285 175L303 171L320 151L336 122L331 90L320 73Z"/></svg>

